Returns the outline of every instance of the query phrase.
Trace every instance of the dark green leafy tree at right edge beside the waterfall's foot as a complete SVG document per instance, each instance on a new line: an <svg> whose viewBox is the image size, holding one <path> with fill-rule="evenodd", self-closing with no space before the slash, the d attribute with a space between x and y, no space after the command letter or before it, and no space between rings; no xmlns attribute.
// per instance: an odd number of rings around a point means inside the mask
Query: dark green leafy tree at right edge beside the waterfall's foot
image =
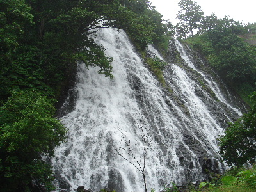
<svg viewBox="0 0 256 192"><path fill-rule="evenodd" d="M253 108L231 123L225 135L219 138L220 154L228 166L243 166L256 160L256 92L253 93Z"/></svg>

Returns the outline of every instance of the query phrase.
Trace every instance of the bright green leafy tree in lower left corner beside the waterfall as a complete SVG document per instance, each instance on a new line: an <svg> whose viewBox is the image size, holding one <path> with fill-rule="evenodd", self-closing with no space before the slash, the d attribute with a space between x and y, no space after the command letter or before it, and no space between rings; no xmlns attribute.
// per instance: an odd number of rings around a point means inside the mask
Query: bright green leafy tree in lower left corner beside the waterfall
<svg viewBox="0 0 256 192"><path fill-rule="evenodd" d="M41 191L53 189L42 155L54 156L66 133L54 112L51 100L33 91L13 92L0 108L1 191L27 191L33 183Z"/></svg>

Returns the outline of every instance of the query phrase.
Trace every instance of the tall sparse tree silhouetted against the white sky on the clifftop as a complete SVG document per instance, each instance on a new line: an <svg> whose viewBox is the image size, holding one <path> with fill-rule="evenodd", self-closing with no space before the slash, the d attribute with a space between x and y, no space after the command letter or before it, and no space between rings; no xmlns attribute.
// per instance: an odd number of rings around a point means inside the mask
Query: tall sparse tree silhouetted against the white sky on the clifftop
<svg viewBox="0 0 256 192"><path fill-rule="evenodd" d="M200 28L202 19L204 19L204 12L202 8L195 2L191 0L181 0L178 5L180 10L177 14L177 18L182 20L188 31L194 36L193 30Z"/></svg>

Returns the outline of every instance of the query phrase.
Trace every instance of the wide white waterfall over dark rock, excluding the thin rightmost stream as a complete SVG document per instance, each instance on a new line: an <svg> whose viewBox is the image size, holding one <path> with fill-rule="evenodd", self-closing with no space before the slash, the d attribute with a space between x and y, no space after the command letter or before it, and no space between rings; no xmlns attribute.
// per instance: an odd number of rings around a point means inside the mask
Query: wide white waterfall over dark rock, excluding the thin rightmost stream
<svg viewBox="0 0 256 192"><path fill-rule="evenodd" d="M124 31L100 29L95 40L113 58L114 79L79 64L74 108L61 117L68 139L51 159L58 190L84 186L144 191L143 177L131 164L136 161L127 153L124 138L141 166L146 140L148 190L159 191L172 182L197 182L207 177L206 172L221 172L216 138L228 121L227 109L178 65L164 69L167 87L163 88ZM157 53L152 46L148 50ZM116 154L113 145L131 163Z"/></svg>

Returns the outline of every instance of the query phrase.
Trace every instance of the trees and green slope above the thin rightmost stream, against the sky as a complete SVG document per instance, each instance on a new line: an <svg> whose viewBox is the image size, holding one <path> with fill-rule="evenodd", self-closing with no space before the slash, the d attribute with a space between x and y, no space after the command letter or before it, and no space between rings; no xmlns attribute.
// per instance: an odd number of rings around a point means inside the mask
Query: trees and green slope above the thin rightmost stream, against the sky
<svg viewBox="0 0 256 192"><path fill-rule="evenodd" d="M256 47L243 37L256 35L256 23L244 24L228 16L218 18L214 13L204 16L195 2L183 1L183 12L178 14L181 22L175 26L177 36L186 38L187 44L202 53L229 88L250 105L248 95L256 90Z"/></svg>

